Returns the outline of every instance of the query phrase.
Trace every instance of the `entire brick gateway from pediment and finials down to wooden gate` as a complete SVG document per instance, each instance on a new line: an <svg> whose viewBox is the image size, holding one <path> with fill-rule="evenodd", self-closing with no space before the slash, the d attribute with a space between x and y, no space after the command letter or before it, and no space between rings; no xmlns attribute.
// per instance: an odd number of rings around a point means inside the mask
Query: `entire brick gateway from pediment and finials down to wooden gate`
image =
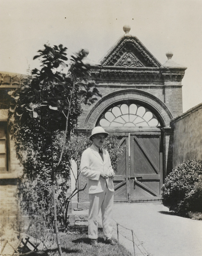
<svg viewBox="0 0 202 256"><path fill-rule="evenodd" d="M171 60L164 65L134 36L121 37L100 64L91 65L96 87L103 95L83 106L78 131L101 125L116 135L124 152L115 176L115 201L155 201L163 179L172 169L170 120L182 113L185 67ZM83 178L79 184L85 183ZM88 201L85 192L79 201Z"/></svg>

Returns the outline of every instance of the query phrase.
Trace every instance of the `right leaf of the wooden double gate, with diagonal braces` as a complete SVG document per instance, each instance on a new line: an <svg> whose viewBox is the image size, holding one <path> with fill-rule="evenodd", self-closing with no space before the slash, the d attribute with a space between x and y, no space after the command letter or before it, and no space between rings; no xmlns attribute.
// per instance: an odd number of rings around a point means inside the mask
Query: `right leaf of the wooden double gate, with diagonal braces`
<svg viewBox="0 0 202 256"><path fill-rule="evenodd" d="M130 201L160 199L162 152L159 134L130 137ZM137 180L135 180L135 177Z"/></svg>

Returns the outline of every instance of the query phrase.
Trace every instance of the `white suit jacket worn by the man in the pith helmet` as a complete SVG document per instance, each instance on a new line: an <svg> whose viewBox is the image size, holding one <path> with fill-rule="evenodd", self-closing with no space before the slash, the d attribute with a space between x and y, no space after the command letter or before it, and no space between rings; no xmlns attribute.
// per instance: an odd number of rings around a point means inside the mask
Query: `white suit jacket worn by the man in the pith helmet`
<svg viewBox="0 0 202 256"><path fill-rule="evenodd" d="M110 155L104 148L102 148L102 151L104 161L98 152L98 148L94 145L87 148L81 157L81 175L87 178L87 190L89 194L103 192L106 185L110 191L114 191L112 178L105 180L100 176L101 171L107 175L113 174Z"/></svg>

